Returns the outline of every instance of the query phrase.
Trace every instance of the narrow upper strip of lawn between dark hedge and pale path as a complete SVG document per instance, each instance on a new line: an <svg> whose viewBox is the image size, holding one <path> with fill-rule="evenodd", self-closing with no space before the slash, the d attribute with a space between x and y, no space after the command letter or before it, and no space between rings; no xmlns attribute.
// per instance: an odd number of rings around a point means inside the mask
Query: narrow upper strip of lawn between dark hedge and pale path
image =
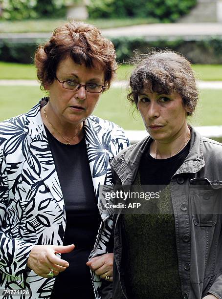
<svg viewBox="0 0 222 299"><path fill-rule="evenodd" d="M222 64L194 64L193 69L200 80L222 81ZM132 65L121 64L117 70L117 80L128 80L132 70ZM0 79L36 78L34 65L0 62Z"/></svg>

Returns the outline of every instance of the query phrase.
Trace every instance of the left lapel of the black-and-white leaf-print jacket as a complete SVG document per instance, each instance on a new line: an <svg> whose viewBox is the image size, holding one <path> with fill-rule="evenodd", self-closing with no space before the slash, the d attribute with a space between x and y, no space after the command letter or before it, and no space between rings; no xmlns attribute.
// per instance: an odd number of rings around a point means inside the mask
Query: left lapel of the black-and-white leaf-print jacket
<svg viewBox="0 0 222 299"><path fill-rule="evenodd" d="M63 194L46 137L40 108L41 106L38 104L26 114L25 129L31 137L29 149L27 149L28 162L31 169L37 172L57 200L61 210L64 211Z"/></svg>

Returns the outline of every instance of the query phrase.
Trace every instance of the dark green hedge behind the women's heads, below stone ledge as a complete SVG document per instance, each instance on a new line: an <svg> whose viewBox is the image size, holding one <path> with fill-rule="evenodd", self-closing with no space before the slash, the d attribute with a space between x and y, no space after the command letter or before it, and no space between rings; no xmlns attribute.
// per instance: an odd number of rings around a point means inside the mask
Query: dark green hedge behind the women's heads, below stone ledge
<svg viewBox="0 0 222 299"><path fill-rule="evenodd" d="M222 64L222 37L212 37L200 41L158 40L145 41L144 38L112 38L119 62L128 62L135 54L146 53L149 49L172 49L184 54L194 64ZM41 40L32 43L13 43L0 40L0 60L6 62L33 63L35 49Z"/></svg>

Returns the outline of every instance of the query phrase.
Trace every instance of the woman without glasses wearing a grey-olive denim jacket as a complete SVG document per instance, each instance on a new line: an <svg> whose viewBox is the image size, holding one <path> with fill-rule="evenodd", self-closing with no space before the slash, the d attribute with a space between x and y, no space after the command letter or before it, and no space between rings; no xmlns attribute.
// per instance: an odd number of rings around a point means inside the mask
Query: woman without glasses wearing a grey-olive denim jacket
<svg viewBox="0 0 222 299"><path fill-rule="evenodd" d="M150 136L111 166L123 190L158 192L140 201L142 213L117 214L113 299L222 298L222 144L187 123L199 92L184 56L157 51L136 63L128 99Z"/></svg>

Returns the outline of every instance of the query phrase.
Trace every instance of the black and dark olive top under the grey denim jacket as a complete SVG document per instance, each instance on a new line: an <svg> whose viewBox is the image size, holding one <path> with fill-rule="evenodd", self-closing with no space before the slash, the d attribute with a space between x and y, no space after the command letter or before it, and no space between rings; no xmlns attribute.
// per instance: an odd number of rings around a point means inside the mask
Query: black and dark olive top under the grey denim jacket
<svg viewBox="0 0 222 299"><path fill-rule="evenodd" d="M189 146L168 159L155 159L149 152L141 157L136 181L140 179L143 190L144 185L158 185L157 190L162 191L158 199L148 201L152 206L149 214L123 215L124 279L129 299L182 298L169 183Z"/></svg>

